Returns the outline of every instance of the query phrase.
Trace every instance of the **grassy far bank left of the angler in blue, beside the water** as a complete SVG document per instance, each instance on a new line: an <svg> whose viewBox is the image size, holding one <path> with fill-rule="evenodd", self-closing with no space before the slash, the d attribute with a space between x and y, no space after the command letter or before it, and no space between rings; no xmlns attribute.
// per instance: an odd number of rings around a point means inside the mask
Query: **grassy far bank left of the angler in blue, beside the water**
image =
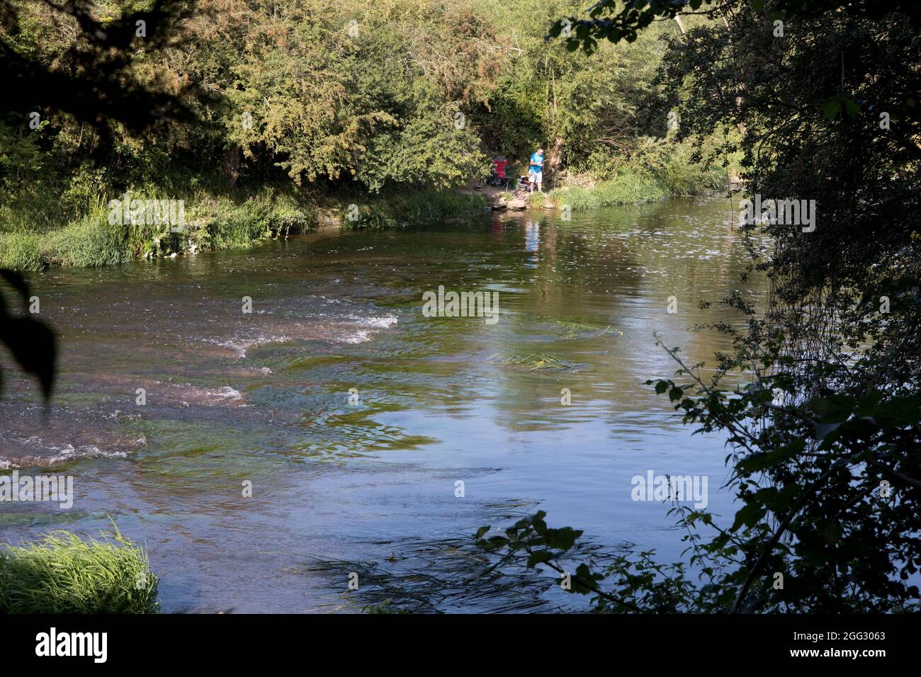
<svg viewBox="0 0 921 677"><path fill-rule="evenodd" d="M167 193L169 197L188 193ZM184 225L110 222L109 198L82 209L34 204L19 199L0 204L0 268L38 271L49 266L99 266L174 253L250 247L264 239L306 232L326 219L344 228L397 227L436 218L483 213L482 196L450 191L417 191L383 197L332 196L321 202L295 191L263 187L252 193L199 189L184 203ZM134 190L131 200L163 200L164 192ZM143 220L143 219L142 219Z"/></svg>

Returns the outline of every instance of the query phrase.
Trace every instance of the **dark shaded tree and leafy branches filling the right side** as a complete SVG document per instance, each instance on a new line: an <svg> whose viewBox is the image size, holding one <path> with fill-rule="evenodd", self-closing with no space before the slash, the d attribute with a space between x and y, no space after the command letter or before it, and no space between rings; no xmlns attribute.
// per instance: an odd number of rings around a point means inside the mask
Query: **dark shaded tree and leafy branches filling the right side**
<svg viewBox="0 0 921 677"><path fill-rule="evenodd" d="M710 16L667 38L658 80L680 113L678 138L693 142L692 158L730 162L738 143L752 193L811 199L821 215L810 232L746 224L752 269L771 280L766 313L730 294L747 325L715 325L734 350L717 355L712 376L670 348L677 378L647 381L686 424L728 438L737 511L724 520L671 508L687 544L671 565L642 552L599 567L579 543L547 548L542 513L476 539L496 566L575 571L571 590L602 611L918 611L921 123L919 76L905 64L921 46L921 12L835 0L687 4L704 5ZM639 29L681 8L604 1L568 46L600 52L600 38L641 39ZM775 38L778 16L796 40ZM883 112L895 121L888 129Z"/></svg>

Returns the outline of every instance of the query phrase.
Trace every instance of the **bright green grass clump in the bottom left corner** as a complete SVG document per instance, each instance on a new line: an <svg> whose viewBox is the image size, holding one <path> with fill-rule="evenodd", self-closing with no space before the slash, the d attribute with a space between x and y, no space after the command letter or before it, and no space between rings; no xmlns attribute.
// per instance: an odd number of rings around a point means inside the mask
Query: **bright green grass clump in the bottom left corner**
<svg viewBox="0 0 921 677"><path fill-rule="evenodd" d="M0 613L157 613L157 584L146 551L117 529L0 550Z"/></svg>

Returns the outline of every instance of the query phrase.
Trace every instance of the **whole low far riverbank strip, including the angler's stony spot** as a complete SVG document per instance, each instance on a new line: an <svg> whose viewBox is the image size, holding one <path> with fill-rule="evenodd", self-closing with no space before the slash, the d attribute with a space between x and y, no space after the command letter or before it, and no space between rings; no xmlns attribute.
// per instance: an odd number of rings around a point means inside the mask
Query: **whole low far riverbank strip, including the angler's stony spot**
<svg viewBox="0 0 921 677"><path fill-rule="evenodd" d="M397 228L437 219L472 218L490 209L571 211L643 204L712 193L728 184L723 170L691 167L684 167L682 172L627 168L605 181L583 175L563 177L562 182L548 193L530 195L479 183L456 191L374 196L317 196L290 184L235 191L150 187L97 196L84 201L88 206L69 210L56 203L36 204L7 196L0 204L0 268L34 272L48 267L93 267L196 251L241 249L322 225ZM158 205L165 201L173 205L171 220L167 211L162 215L158 211Z"/></svg>

